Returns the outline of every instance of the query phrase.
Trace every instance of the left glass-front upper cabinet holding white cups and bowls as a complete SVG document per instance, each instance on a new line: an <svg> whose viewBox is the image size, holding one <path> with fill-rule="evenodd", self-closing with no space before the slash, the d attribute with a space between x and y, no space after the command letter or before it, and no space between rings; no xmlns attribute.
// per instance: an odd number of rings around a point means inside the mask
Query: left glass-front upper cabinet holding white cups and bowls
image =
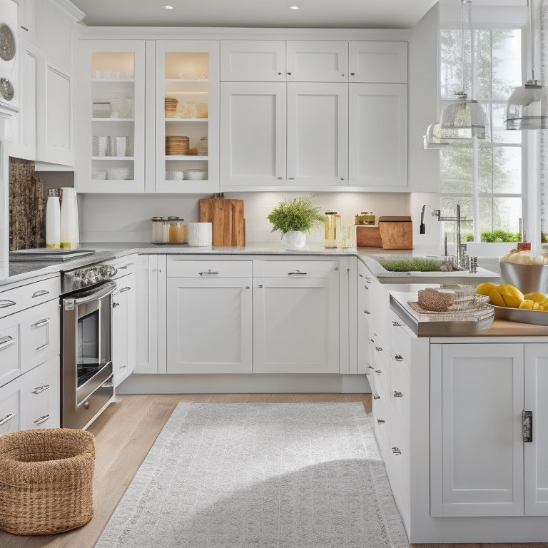
<svg viewBox="0 0 548 548"><path fill-rule="evenodd" d="M145 191L145 42L78 43L76 188Z"/></svg>

